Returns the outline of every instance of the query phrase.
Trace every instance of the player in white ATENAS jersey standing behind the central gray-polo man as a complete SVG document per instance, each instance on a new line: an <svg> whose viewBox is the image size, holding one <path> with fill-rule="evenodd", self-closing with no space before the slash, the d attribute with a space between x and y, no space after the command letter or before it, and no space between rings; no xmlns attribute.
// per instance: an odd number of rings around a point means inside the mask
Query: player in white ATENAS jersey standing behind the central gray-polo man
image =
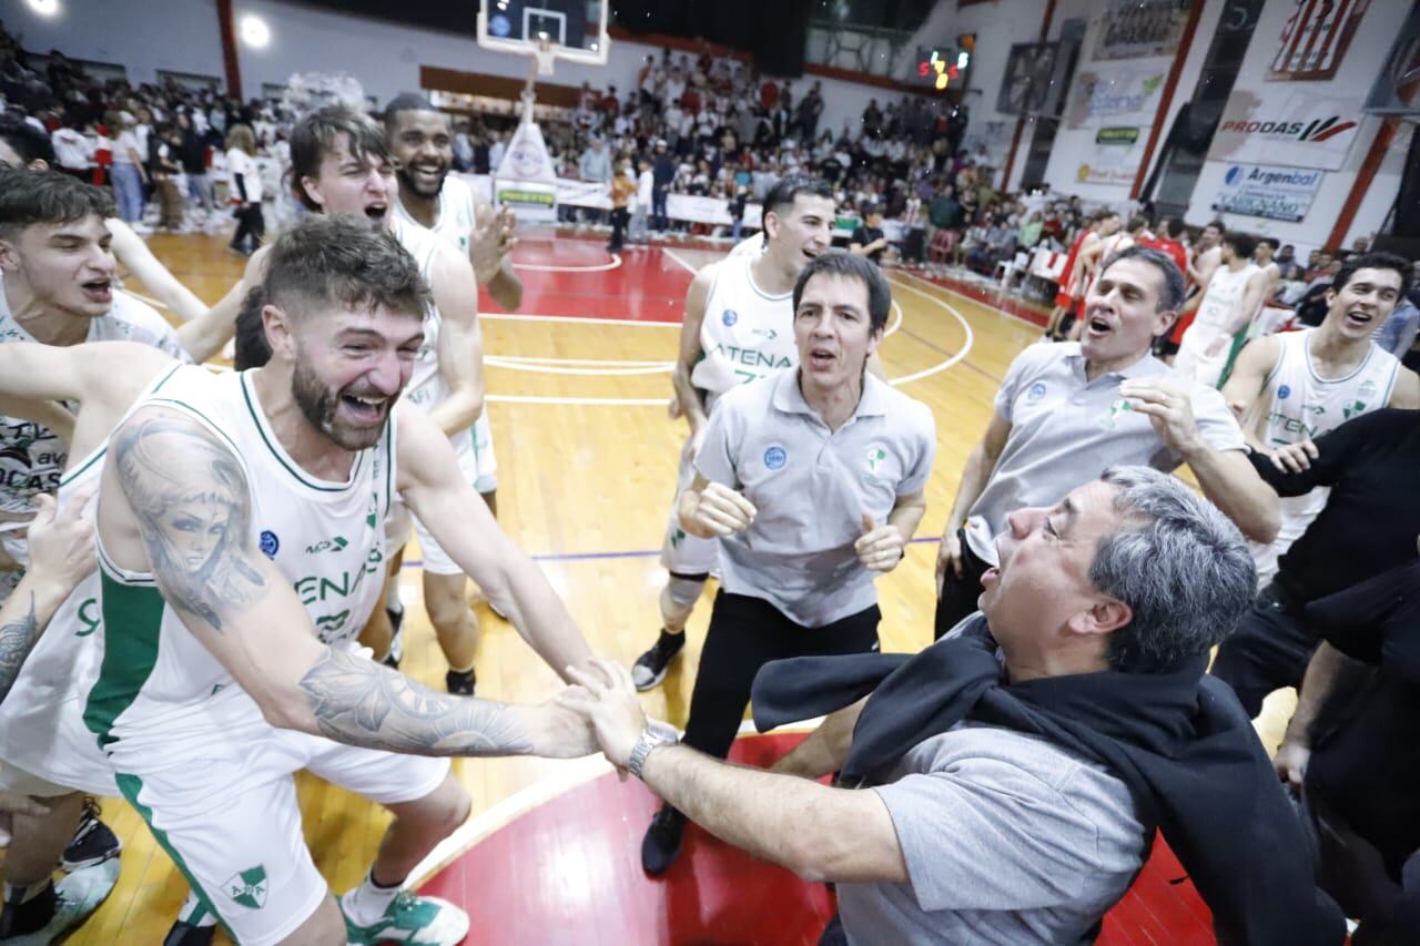
<svg viewBox="0 0 1420 946"><path fill-rule="evenodd" d="M694 479L714 401L737 385L798 364L794 348L794 283L799 271L829 247L834 197L816 178L791 175L764 202L764 251L730 256L701 268L686 295L680 355L672 382L673 409L686 418L690 436L680 450L676 497ZM660 564L669 571L660 591L660 636L636 659L638 689L659 685L686 645L686 621L716 567L714 538L690 535L672 504Z"/></svg>

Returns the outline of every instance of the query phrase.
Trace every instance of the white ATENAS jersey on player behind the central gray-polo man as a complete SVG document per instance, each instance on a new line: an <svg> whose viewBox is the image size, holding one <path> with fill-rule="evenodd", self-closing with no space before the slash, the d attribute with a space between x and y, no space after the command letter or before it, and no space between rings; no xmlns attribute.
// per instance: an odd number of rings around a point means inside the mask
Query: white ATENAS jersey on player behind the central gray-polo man
<svg viewBox="0 0 1420 946"><path fill-rule="evenodd" d="M794 347L794 294L768 295L754 284L754 257L727 257L710 264L714 280L700 321L703 358L690 381L707 401L736 385L798 365ZM709 403L707 403L709 406Z"/></svg>

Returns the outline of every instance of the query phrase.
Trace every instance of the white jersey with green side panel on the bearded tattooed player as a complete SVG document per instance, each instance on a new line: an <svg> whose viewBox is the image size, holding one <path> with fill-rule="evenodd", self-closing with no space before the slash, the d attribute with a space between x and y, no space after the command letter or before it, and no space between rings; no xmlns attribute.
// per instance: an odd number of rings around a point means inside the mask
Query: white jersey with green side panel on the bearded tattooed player
<svg viewBox="0 0 1420 946"><path fill-rule="evenodd" d="M230 527L246 528L247 540L275 562L305 605L315 635L345 646L383 592L393 419L375 446L355 455L344 483L318 480L281 446L250 374L213 376L185 366L135 409L160 405L182 412L231 450L247 477L251 517ZM114 753L119 771L119 753L159 747L170 753L175 739L210 739L224 720L247 717L251 697L168 608L153 577L116 565L102 544L98 560L105 653L84 720Z"/></svg>

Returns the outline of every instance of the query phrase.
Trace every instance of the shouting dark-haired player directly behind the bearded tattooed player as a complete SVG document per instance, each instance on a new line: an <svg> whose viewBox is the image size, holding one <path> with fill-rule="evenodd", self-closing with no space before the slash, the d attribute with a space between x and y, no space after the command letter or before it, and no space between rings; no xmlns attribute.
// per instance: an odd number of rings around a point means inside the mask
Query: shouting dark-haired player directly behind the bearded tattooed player
<svg viewBox="0 0 1420 946"><path fill-rule="evenodd" d="M372 226L392 229L419 261L433 293L426 344L419 351L406 399L429 412L454 442L460 469L471 482L474 453L471 428L483 411L483 341L477 322L477 284L473 267L457 250L430 232L393 219L398 189L393 156L383 131L368 116L345 108L324 108L291 131L291 189L315 213L354 213ZM243 280L217 304L240 310L246 294L261 283L264 253L257 250ZM402 516L396 509L396 516ZM396 523L398 527L398 523ZM452 693L471 695L473 658L479 624L464 598L466 577L415 521L425 555L425 608L449 660L446 685ZM389 615L379 609L364 641L376 655L386 655L393 634Z"/></svg>

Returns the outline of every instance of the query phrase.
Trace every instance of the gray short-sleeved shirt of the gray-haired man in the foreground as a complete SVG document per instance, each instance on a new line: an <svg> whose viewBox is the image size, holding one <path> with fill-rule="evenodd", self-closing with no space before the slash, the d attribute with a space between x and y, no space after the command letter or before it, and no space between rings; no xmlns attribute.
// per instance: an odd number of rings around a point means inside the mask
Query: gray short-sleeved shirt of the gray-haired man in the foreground
<svg viewBox="0 0 1420 946"><path fill-rule="evenodd" d="M1088 942L1143 864L1125 783L1038 736L958 723L869 791L910 882L838 885L851 943Z"/></svg>

